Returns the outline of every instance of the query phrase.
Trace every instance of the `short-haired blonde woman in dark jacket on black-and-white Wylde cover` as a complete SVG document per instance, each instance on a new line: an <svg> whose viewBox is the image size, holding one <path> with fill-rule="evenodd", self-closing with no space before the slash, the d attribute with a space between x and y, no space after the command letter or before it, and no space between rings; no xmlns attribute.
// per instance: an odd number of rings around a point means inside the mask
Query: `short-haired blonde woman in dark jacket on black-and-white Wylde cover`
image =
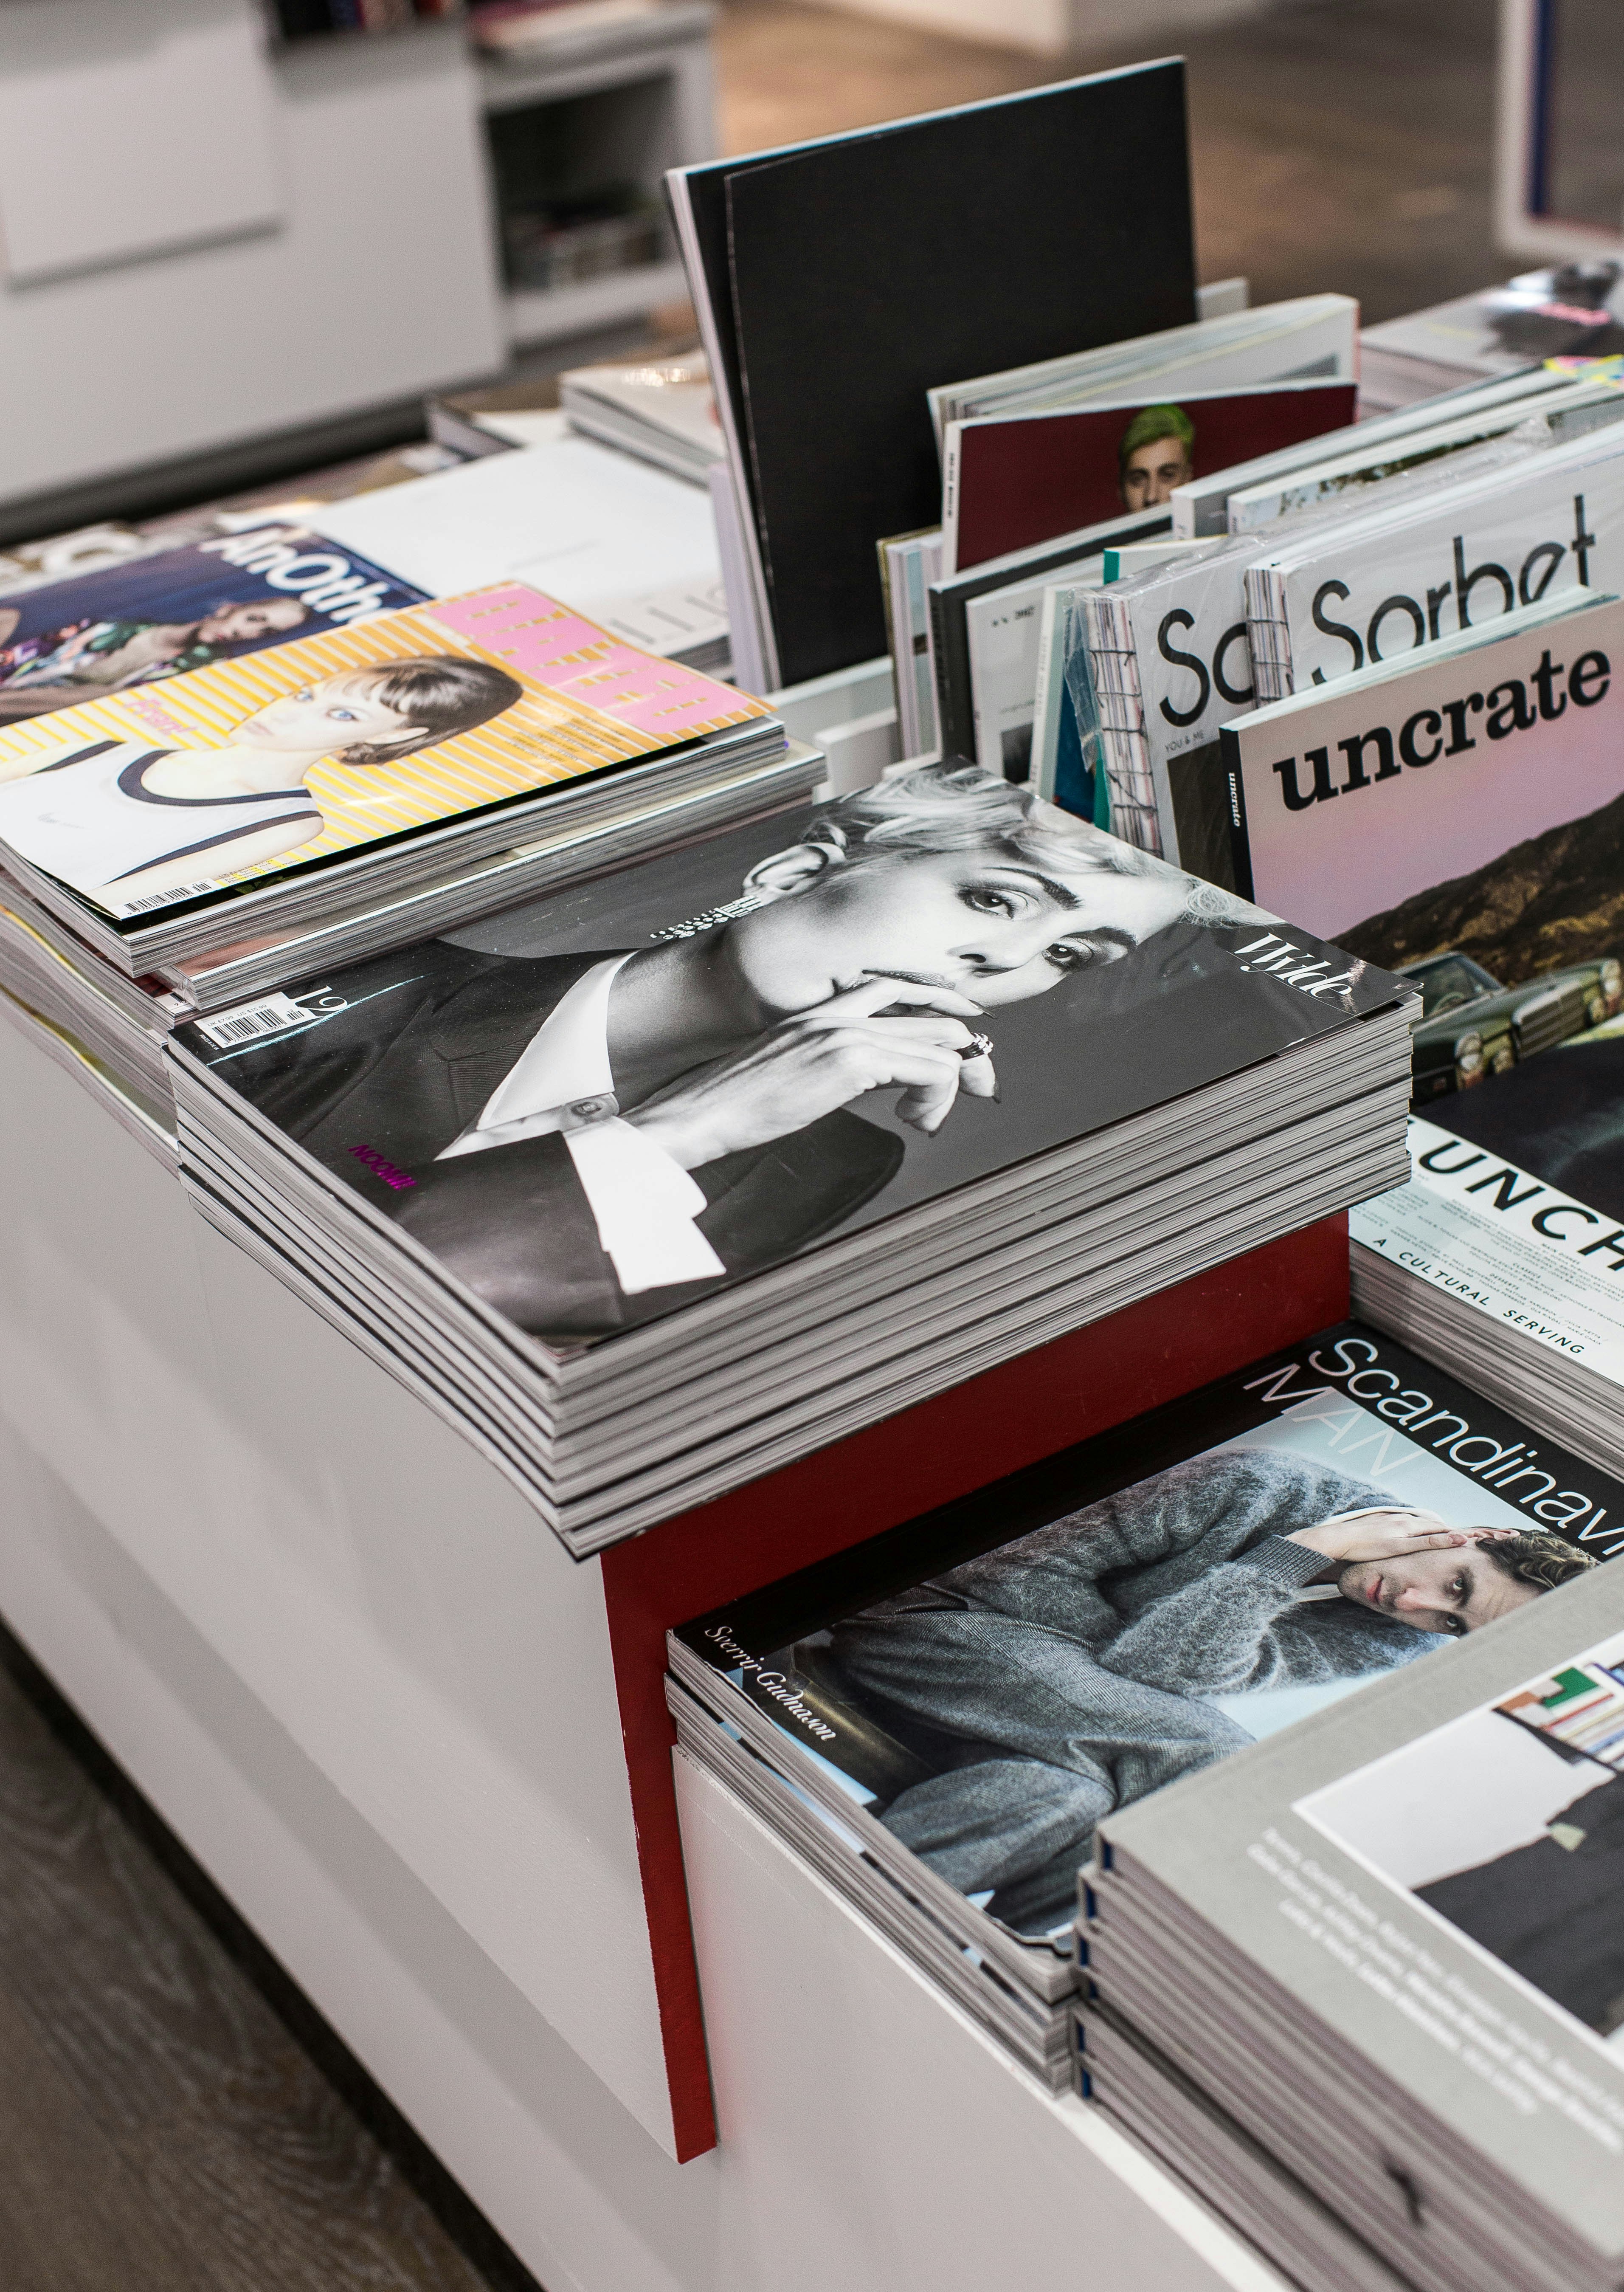
<svg viewBox="0 0 1624 2292"><path fill-rule="evenodd" d="M229 1080L488 1304L557 1341L687 1304L843 1224L902 1141L999 1096L985 1031L1180 919L1255 915L969 768L811 814L742 898L641 949L431 940L312 997ZM387 1164L389 1176L378 1171Z"/></svg>

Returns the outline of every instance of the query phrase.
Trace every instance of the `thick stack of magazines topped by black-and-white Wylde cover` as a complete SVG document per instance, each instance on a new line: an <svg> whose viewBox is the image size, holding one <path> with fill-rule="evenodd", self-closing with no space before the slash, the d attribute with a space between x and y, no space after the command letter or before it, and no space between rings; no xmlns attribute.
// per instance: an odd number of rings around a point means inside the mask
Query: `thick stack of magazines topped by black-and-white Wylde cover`
<svg viewBox="0 0 1624 2292"><path fill-rule="evenodd" d="M1393 1185L1411 1006L923 768L172 1063L204 1217L593 1552Z"/></svg>

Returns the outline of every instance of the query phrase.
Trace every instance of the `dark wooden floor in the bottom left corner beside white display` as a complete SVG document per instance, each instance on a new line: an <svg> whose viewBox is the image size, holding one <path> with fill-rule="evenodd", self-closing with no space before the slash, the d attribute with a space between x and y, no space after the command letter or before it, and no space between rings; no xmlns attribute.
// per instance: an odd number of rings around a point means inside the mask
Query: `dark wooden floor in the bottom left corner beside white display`
<svg viewBox="0 0 1624 2292"><path fill-rule="evenodd" d="M2 2292L538 2292L0 1634Z"/></svg>

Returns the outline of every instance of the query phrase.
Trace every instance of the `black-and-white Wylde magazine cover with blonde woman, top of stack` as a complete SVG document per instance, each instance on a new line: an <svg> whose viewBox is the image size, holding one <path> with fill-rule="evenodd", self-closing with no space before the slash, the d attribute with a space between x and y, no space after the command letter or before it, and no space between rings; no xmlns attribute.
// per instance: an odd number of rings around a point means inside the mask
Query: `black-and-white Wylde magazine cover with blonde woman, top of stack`
<svg viewBox="0 0 1624 2292"><path fill-rule="evenodd" d="M1253 970L1267 926L925 766L309 981L275 1041L181 1041L509 1320L580 1341L1390 1006L1335 949Z"/></svg>

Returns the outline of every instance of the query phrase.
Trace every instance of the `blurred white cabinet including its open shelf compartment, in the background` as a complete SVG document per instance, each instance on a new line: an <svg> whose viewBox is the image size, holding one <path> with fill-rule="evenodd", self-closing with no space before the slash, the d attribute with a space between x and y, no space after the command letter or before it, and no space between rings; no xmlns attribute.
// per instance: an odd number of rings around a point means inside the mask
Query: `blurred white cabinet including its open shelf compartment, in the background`
<svg viewBox="0 0 1624 2292"><path fill-rule="evenodd" d="M463 18L273 41L257 0L0 0L0 543L412 433L428 392L685 293L509 293L497 144L559 195L715 149L710 9L481 60ZM511 174L511 167L509 167Z"/></svg>

